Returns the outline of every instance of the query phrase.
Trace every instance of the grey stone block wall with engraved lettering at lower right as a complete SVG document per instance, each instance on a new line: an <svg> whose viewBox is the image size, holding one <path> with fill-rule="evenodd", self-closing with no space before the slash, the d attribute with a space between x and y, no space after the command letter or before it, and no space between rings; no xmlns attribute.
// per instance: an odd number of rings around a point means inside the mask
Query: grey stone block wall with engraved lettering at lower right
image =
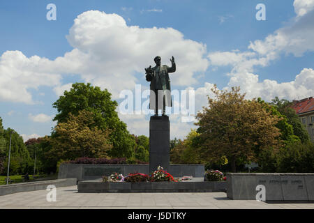
<svg viewBox="0 0 314 223"><path fill-rule="evenodd" d="M227 174L227 197L255 200L264 185L266 201L314 201L314 174Z"/></svg>

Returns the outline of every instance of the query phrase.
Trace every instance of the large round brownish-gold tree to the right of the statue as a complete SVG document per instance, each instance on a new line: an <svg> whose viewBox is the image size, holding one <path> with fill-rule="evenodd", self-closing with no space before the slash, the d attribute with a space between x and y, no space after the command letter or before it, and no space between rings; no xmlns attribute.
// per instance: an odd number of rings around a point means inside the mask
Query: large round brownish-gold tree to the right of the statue
<svg viewBox="0 0 314 223"><path fill-rule="evenodd" d="M246 100L239 87L228 92L215 85L211 91L216 98L208 98L209 107L197 114L195 123L200 126L200 153L207 162L225 155L235 172L236 163L254 162L256 153L281 146L281 133L275 126L281 118L257 100Z"/></svg>

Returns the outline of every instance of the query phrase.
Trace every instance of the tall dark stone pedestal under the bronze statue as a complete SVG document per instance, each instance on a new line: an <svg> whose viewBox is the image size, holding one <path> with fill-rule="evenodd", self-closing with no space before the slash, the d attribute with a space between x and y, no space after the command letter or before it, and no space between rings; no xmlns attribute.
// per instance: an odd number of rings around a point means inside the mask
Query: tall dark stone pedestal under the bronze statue
<svg viewBox="0 0 314 223"><path fill-rule="evenodd" d="M149 172L158 166L169 171L170 122L168 116L151 116L149 121Z"/></svg>

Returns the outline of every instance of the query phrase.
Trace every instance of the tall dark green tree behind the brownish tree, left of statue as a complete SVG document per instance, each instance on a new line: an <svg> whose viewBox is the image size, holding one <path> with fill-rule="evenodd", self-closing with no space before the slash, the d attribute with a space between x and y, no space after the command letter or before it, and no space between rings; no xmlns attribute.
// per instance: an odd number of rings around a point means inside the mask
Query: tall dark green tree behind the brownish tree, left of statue
<svg viewBox="0 0 314 223"><path fill-rule="evenodd" d="M52 106L58 112L53 119L57 123L65 123L70 113L77 116L78 112L83 109L92 112L95 127L100 130L112 130L110 132L112 150L109 155L112 157L134 156L135 140L126 129L126 123L119 119L116 112L118 103L111 100L111 93L107 89L101 91L98 86L91 86L90 83L75 83L70 91L64 91L64 95L60 96Z"/></svg>

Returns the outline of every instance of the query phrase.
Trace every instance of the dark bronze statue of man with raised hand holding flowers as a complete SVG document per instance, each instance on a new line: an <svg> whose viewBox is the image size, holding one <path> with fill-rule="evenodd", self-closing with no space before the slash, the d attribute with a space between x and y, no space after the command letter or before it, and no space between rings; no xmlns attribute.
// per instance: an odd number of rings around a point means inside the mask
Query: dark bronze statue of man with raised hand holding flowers
<svg viewBox="0 0 314 223"><path fill-rule="evenodd" d="M149 109L155 110L155 116L158 116L158 109L161 109L165 116L165 107L172 107L170 78L168 73L176 71L176 63L172 56L171 68L167 65L161 66L160 56L154 59L156 66L154 68L145 68L147 82L151 82L151 94L149 97Z"/></svg>

